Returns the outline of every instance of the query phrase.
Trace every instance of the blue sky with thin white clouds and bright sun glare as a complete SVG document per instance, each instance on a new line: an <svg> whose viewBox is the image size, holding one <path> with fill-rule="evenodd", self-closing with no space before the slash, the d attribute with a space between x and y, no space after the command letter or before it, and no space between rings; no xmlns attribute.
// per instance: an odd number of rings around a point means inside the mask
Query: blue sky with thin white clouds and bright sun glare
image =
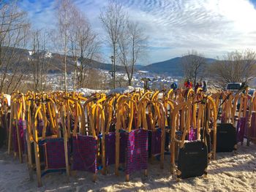
<svg viewBox="0 0 256 192"><path fill-rule="evenodd" d="M119 0L129 19L140 24L148 37L148 51L141 64L165 61L197 50L217 58L234 50L256 50L256 0ZM107 0L73 0L105 38L99 13ZM56 26L56 3L50 0L20 0L33 28ZM102 58L111 53L102 45Z"/></svg>

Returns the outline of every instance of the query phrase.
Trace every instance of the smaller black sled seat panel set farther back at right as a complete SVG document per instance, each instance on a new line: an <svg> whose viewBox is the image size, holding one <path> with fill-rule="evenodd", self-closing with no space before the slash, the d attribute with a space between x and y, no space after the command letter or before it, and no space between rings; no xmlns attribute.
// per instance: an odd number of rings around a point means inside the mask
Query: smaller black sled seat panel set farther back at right
<svg viewBox="0 0 256 192"><path fill-rule="evenodd" d="M236 128L231 123L218 123L216 152L232 152L236 144Z"/></svg>

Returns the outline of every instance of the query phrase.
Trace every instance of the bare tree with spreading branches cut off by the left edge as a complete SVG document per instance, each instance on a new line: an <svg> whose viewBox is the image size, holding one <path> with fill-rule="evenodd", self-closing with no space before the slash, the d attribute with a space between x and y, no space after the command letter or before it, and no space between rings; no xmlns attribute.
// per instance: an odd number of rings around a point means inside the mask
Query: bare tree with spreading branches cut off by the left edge
<svg viewBox="0 0 256 192"><path fill-rule="evenodd" d="M27 45L29 22L16 1L0 3L0 92L14 91L22 80L20 61Z"/></svg>

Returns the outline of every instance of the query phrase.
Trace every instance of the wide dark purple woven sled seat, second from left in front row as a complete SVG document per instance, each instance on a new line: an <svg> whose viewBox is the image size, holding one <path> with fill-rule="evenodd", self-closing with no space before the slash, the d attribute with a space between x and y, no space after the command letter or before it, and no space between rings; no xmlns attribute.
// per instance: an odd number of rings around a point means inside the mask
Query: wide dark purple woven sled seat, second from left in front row
<svg viewBox="0 0 256 192"><path fill-rule="evenodd" d="M72 169L97 172L97 139L81 135L73 137Z"/></svg>

